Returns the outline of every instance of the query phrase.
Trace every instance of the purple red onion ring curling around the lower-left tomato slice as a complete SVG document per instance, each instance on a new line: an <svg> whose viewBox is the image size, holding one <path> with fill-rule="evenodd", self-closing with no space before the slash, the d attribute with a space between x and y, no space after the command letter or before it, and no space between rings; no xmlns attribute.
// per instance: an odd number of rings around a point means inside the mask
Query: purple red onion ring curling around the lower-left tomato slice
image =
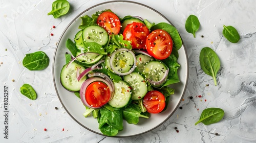
<svg viewBox="0 0 256 143"><path fill-rule="evenodd" d="M110 98L110 99L113 98L112 95L113 95L114 90L113 90L111 84L110 84L108 81L106 81L106 80L104 80L104 79L102 79L102 78L98 78L98 77L89 78L89 79L87 79L86 81L84 81L84 82L82 83L81 88L80 88L80 99L81 99L82 103L83 103L84 105L88 106L89 108L95 108L95 109L96 109L96 108L100 108L100 107L93 107L93 106L89 105L89 104L87 103L87 101L86 101L86 89L87 89L87 87L88 87L92 82L95 82L95 81L101 81L101 82L105 83L106 85L108 85L108 87L110 88L110 93L111 93L111 98ZM110 101L110 99L109 99L109 101ZM101 106L101 107L102 107L102 106Z"/></svg>

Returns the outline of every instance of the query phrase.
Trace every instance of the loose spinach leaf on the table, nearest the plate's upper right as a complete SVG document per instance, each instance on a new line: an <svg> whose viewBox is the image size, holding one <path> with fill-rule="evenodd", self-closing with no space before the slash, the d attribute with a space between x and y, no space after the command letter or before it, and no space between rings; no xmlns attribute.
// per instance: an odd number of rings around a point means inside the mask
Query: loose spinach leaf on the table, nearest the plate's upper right
<svg viewBox="0 0 256 143"><path fill-rule="evenodd" d="M189 15L187 17L185 28L188 33L192 33L194 35L194 38L196 37L196 32L198 31L200 27L200 22L195 15Z"/></svg>

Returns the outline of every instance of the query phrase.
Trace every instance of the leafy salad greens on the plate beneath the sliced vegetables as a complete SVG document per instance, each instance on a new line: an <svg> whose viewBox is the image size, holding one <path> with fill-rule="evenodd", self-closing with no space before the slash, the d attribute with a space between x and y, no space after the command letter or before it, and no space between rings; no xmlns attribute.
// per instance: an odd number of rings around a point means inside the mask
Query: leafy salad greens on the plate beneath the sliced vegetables
<svg viewBox="0 0 256 143"><path fill-rule="evenodd" d="M78 28L80 30L83 30L83 29L86 29L87 27L96 25L96 20L98 15L104 11L111 11L111 10L106 9L103 11L98 11L95 14L93 14L91 17L88 15L80 17L82 22ZM129 16L126 16L126 17L129 17ZM146 81L148 85L147 87L148 91L156 89L164 95L165 109L166 109L169 102L170 95L174 94L174 89L168 87L168 85L179 82L178 68L180 67L180 64L177 62L177 58L179 56L178 50L182 46L182 40L177 29L172 25L169 25L163 22L158 23L156 25L155 23L150 23L145 19L144 19L144 22L146 23L146 26L150 28L150 31L153 31L155 29L163 29L163 30L166 30L170 34L170 36L174 37L173 53L170 54L170 56L167 59L161 60L166 65L166 67L169 68L166 82L161 87L154 87L154 85ZM125 49L132 50L131 42L128 40L123 40L123 35L120 33L109 35L108 45L104 47L102 47L100 44L96 42L84 42L81 37L75 36L74 38L75 42L73 42L71 39L68 39L66 42L66 46L73 56L76 56L77 52L81 52L81 53L93 52L99 55L103 55L102 59L105 59L105 57L111 55L113 52L115 52L118 49L125 48ZM79 44L79 48L77 47L78 44ZM72 60L70 54L66 54L65 56L66 56L67 63ZM105 62L101 63L100 65L102 66L102 68L94 69L93 71L109 76L109 78L113 82L119 82L120 80L122 80L121 76L116 75L111 70L106 68ZM136 67L134 71L139 73L138 67ZM80 98L79 92L75 92L75 95L78 98ZM127 104L123 108L114 108L109 104L105 104L104 106L98 109L93 109L86 106L86 112L84 112L83 115L84 117L88 117L92 115L94 118L97 118L99 123L99 130L104 135L107 135L107 136L115 136L118 133L118 131L122 130L123 120L125 120L129 124L138 124L140 117L143 117L143 118L150 117L150 113L147 112L145 106L143 105L143 99L136 100L136 101L130 100L129 104Z"/></svg>

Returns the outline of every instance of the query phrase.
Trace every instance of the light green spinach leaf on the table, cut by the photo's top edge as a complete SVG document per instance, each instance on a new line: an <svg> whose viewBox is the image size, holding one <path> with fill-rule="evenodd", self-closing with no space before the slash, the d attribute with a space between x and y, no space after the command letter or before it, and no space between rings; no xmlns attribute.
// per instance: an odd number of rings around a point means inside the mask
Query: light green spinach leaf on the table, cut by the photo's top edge
<svg viewBox="0 0 256 143"><path fill-rule="evenodd" d="M69 12L70 4L66 0L57 0L52 3L52 11L48 15L53 15L54 18L58 18Z"/></svg>

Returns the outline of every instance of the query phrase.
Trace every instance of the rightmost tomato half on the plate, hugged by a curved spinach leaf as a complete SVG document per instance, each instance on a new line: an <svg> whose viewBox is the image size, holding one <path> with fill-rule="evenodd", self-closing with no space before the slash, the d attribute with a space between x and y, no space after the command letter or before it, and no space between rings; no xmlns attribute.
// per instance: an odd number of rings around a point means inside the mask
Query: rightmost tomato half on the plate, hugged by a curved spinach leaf
<svg viewBox="0 0 256 143"><path fill-rule="evenodd" d="M172 50L173 40L166 31L157 29L147 36L146 51L152 57L158 60L166 59Z"/></svg>

